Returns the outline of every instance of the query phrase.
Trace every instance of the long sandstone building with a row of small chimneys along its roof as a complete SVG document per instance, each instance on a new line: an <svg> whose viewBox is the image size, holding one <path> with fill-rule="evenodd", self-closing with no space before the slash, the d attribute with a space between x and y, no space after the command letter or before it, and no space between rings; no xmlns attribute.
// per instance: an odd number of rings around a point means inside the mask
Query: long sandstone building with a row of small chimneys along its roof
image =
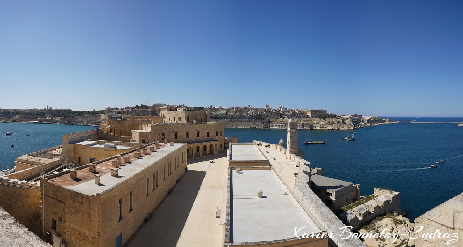
<svg viewBox="0 0 463 247"><path fill-rule="evenodd" d="M124 245L180 181L186 151L182 143L153 142L141 153L129 151L43 177L43 235L54 246Z"/></svg>

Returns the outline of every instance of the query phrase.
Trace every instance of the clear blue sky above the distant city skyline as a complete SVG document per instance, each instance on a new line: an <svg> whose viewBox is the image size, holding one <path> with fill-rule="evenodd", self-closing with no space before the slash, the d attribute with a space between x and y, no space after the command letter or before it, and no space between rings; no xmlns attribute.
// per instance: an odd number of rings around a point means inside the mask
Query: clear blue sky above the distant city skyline
<svg viewBox="0 0 463 247"><path fill-rule="evenodd" d="M0 0L0 108L462 116L463 2Z"/></svg>

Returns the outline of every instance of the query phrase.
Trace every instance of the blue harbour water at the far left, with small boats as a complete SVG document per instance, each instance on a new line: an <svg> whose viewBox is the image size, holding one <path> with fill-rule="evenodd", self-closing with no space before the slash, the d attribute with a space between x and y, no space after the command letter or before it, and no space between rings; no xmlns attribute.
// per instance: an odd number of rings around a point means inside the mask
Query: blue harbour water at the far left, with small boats
<svg viewBox="0 0 463 247"><path fill-rule="evenodd" d="M54 123L0 123L0 170L14 167L17 157L30 154L34 149L40 151L61 145L65 134L92 128L95 127ZM13 135L6 136L8 131L13 132Z"/></svg>

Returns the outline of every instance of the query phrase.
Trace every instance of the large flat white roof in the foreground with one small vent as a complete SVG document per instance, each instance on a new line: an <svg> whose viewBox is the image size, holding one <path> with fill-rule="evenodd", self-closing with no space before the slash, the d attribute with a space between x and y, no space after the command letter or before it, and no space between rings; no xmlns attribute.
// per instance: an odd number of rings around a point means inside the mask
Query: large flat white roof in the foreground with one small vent
<svg viewBox="0 0 463 247"><path fill-rule="evenodd" d="M292 238L294 228L320 232L272 170L231 173L232 242L272 241ZM263 191L258 198L257 191Z"/></svg>

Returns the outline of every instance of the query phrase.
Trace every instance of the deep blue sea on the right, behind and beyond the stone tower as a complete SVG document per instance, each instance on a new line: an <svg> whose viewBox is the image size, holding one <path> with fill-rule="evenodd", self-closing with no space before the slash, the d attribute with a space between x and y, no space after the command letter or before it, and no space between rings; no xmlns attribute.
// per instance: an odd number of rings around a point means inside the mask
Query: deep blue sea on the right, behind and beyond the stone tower
<svg viewBox="0 0 463 247"><path fill-rule="evenodd" d="M415 117L389 117L414 120ZM463 117L417 117L417 122L462 122ZM361 195L374 188L400 192L402 210L414 218L463 192L463 126L457 123L393 123L356 130L355 141L344 141L353 130L299 130L299 147L311 167L323 174L360 184ZM286 130L225 129L238 142L277 144ZM326 144L302 145L304 140ZM430 168L439 160L437 168Z"/></svg>

